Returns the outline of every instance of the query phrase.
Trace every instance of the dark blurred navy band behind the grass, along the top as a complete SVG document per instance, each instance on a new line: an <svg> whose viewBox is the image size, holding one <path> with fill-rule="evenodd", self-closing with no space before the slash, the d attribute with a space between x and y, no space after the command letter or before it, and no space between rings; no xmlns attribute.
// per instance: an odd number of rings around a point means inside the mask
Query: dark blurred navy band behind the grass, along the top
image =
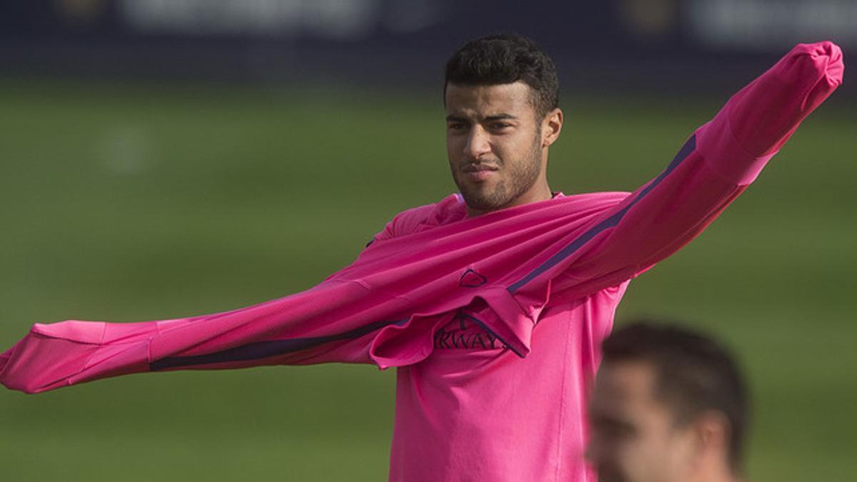
<svg viewBox="0 0 857 482"><path fill-rule="evenodd" d="M3 0L0 62L13 76L435 87L448 52L512 31L566 89L675 92L731 89L800 42L848 55L854 18L852 0Z"/></svg>

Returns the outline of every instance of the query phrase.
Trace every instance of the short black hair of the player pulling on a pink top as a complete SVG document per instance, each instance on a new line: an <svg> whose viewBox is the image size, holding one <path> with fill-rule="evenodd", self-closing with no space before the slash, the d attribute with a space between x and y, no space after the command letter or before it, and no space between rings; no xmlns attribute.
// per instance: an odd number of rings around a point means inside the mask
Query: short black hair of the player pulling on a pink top
<svg viewBox="0 0 857 482"><path fill-rule="evenodd" d="M497 33L470 40L446 61L444 101L449 84L483 86L522 81L533 90L539 117L560 105L560 80L554 61L532 39Z"/></svg>

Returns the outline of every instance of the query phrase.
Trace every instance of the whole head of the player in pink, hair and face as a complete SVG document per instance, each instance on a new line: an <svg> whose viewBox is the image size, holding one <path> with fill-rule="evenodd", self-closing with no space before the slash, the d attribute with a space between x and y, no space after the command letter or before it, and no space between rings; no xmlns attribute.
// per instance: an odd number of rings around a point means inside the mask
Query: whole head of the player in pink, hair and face
<svg viewBox="0 0 857 482"><path fill-rule="evenodd" d="M446 152L470 214L550 198L558 102L554 63L530 39L490 35L452 54L444 81Z"/></svg>

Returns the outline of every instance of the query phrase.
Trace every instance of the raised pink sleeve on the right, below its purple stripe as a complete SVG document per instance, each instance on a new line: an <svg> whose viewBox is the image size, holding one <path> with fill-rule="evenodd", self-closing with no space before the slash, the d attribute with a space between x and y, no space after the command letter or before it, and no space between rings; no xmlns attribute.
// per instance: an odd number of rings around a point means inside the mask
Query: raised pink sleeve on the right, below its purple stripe
<svg viewBox="0 0 857 482"><path fill-rule="evenodd" d="M614 286L680 249L752 183L842 72L836 45L796 45L698 128L660 175L593 222L552 292L575 298Z"/></svg>

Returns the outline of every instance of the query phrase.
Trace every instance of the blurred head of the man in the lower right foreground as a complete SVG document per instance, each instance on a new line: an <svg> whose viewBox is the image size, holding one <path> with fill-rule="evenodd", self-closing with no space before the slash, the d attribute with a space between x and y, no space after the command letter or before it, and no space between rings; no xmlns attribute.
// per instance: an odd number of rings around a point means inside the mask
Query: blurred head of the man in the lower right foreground
<svg viewBox="0 0 857 482"><path fill-rule="evenodd" d="M636 323L604 340L602 354L587 449L599 482L739 478L746 389L722 346Z"/></svg>

